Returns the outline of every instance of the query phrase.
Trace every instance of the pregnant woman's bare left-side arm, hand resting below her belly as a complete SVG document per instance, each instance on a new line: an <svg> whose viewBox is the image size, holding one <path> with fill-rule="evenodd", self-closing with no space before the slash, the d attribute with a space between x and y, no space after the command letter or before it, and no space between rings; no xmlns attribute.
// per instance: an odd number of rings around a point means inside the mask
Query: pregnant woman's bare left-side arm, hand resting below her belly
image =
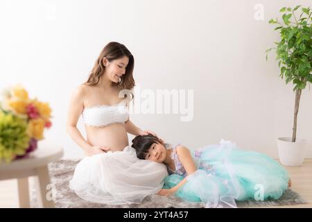
<svg viewBox="0 0 312 222"><path fill-rule="evenodd" d="M85 88L83 85L80 85L77 89L74 90L71 95L71 100L69 102L69 110L67 113L67 133L73 139L78 146L83 148L83 151L87 155L93 155L96 153L103 153L103 151L97 149L96 147L89 144L83 138L80 131L77 128L77 122L80 117L81 112L83 112L83 101L85 99Z"/></svg>

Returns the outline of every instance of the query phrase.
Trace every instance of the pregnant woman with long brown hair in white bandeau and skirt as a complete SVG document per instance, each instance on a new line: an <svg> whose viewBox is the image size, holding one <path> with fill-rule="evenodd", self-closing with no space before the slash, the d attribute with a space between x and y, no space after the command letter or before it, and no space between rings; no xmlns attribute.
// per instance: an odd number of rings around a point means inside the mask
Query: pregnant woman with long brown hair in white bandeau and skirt
<svg viewBox="0 0 312 222"><path fill-rule="evenodd" d="M69 187L95 203L141 203L162 189L168 176L164 164L139 160L128 135L146 135L129 119L130 89L135 86L134 58L118 42L110 42L69 104L67 133L85 151ZM87 139L76 124L83 117Z"/></svg>

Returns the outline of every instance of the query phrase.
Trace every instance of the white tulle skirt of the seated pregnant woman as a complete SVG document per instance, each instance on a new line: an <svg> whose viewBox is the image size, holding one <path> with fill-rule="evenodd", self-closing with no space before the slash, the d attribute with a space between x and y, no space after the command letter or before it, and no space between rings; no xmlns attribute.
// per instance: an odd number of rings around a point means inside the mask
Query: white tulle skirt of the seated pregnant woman
<svg viewBox="0 0 312 222"><path fill-rule="evenodd" d="M139 160L135 149L126 146L123 151L84 157L69 187L80 198L94 203L141 203L162 189L166 176L164 164Z"/></svg>

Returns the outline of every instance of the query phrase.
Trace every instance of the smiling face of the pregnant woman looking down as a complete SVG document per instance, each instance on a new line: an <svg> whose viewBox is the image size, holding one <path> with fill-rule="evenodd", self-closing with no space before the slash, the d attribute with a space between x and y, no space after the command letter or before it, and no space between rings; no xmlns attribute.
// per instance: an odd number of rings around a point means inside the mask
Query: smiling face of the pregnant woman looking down
<svg viewBox="0 0 312 222"><path fill-rule="evenodd" d="M129 62L128 56L112 60L109 62L106 58L103 58L105 65L105 75L114 83L119 83L119 78L125 74Z"/></svg>

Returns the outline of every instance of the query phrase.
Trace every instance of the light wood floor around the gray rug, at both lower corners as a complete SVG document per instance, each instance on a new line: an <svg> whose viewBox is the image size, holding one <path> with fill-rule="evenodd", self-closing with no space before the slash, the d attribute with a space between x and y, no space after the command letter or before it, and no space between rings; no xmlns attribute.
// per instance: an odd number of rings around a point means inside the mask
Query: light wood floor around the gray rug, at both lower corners
<svg viewBox="0 0 312 222"><path fill-rule="evenodd" d="M312 208L312 159L304 160L300 167L286 167L291 175L291 189L296 191L308 203L278 207L309 207ZM19 207L17 197L17 180L0 181L0 208Z"/></svg>

